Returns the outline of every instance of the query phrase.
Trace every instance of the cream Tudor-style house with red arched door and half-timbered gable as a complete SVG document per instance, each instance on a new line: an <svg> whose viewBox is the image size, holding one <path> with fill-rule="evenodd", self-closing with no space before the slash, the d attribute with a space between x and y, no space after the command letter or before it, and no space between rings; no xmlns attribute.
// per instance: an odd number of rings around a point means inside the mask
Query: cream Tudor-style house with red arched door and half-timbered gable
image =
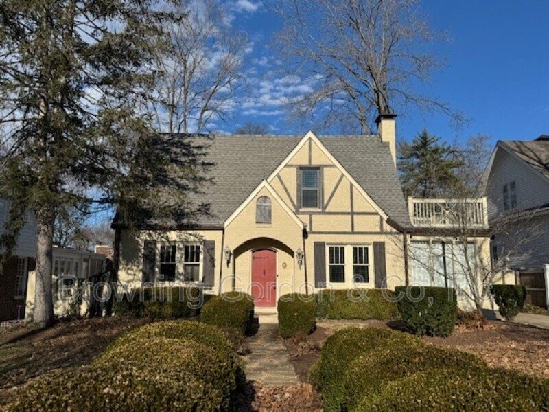
<svg viewBox="0 0 549 412"><path fill-rule="evenodd" d="M411 246L451 249L452 237L419 229L451 226L442 214L453 203L415 199L408 211L395 116L377 124L376 135L209 136L213 184L203 196L211 215L192 229L141 222L130 231L115 220L118 292L197 283L207 293L246 291L259 311L274 312L287 293L453 282L452 265L440 281L408 260ZM471 205L474 224L487 227L485 199ZM489 255L487 238L471 244Z"/></svg>

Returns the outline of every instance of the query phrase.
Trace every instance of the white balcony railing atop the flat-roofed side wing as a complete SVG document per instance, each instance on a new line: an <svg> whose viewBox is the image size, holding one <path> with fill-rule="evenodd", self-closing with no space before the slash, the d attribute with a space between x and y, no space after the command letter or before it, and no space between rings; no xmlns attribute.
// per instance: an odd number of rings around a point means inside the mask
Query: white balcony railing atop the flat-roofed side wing
<svg viewBox="0 0 549 412"><path fill-rule="evenodd" d="M488 227L486 198L408 198L410 220L415 227L482 229Z"/></svg>

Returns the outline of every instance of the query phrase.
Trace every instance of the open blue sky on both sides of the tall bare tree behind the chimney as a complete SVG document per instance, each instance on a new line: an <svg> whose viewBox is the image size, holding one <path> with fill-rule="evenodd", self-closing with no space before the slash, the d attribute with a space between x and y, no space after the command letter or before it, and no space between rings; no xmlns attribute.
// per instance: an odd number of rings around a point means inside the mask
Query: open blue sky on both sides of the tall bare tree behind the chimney
<svg viewBox="0 0 549 412"><path fill-rule="evenodd" d="M305 133L289 128L277 97L299 93L302 84L277 78L270 68L281 62L270 39L281 21L268 0L230 0L233 26L253 41L249 69L258 85L259 103L243 107L231 126L268 124L274 133ZM436 45L445 67L425 85L425 92L462 111L469 122L459 130L441 113L398 113L399 138L411 139L422 128L447 141L471 135L529 140L549 134L549 1L423 0L421 9L434 30L450 40ZM229 128L231 127L229 126Z"/></svg>

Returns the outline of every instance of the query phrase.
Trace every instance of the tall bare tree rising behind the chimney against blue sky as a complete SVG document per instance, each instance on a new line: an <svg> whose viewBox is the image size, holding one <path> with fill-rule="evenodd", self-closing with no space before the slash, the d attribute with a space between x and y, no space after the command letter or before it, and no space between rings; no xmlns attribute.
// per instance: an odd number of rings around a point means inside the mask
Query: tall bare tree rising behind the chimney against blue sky
<svg viewBox="0 0 549 412"><path fill-rule="evenodd" d="M313 90L291 102L299 117L370 133L379 114L412 104L463 115L414 86L440 64L422 46L434 34L417 0L283 0L277 45L285 69L312 80ZM441 37L439 35L439 37ZM419 82L418 82L419 80Z"/></svg>

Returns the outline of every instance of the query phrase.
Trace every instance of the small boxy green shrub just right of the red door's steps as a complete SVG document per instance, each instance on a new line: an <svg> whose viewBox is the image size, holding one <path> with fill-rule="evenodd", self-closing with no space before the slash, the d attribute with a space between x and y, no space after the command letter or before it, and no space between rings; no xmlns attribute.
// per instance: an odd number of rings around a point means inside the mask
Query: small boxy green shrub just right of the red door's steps
<svg viewBox="0 0 549 412"><path fill-rule="evenodd" d="M309 295L291 293L278 302L279 332L283 338L307 335L316 325L316 300Z"/></svg>

